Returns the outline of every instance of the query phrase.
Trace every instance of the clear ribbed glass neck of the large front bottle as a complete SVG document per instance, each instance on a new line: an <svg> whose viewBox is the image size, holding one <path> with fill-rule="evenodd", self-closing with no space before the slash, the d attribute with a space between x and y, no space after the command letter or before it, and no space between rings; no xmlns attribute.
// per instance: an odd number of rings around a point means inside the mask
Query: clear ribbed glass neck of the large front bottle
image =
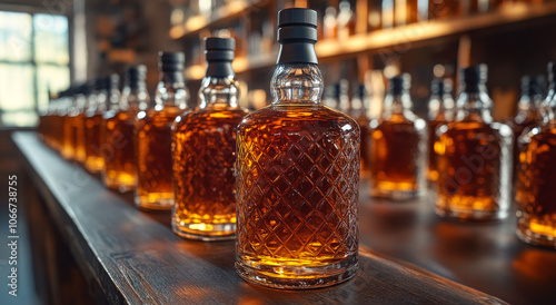
<svg viewBox="0 0 556 305"><path fill-rule="evenodd" d="M272 105L321 105L322 76L317 63L279 63L270 83Z"/></svg>

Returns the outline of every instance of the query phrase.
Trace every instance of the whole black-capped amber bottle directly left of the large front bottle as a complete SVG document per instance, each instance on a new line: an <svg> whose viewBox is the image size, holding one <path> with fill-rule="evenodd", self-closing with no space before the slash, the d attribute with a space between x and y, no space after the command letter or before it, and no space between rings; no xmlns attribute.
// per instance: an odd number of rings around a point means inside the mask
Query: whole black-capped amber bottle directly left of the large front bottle
<svg viewBox="0 0 556 305"><path fill-rule="evenodd" d="M238 106L231 69L236 41L206 38L207 75L200 105L172 126L173 232L202 240L236 236L236 128L246 112Z"/></svg>

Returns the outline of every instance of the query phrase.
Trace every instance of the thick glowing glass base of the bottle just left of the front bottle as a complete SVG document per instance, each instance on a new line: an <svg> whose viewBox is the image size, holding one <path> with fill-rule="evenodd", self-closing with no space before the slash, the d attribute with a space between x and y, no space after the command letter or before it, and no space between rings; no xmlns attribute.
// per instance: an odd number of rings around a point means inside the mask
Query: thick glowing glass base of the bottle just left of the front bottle
<svg viewBox="0 0 556 305"><path fill-rule="evenodd" d="M219 242L236 239L236 224L183 224L172 219L172 230L177 235L193 240Z"/></svg>

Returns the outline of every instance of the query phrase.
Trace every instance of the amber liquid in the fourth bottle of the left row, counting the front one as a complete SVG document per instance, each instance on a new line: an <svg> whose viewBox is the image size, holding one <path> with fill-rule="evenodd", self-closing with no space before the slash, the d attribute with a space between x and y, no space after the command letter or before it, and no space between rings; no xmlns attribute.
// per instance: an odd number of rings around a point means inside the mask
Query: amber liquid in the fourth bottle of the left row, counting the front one
<svg viewBox="0 0 556 305"><path fill-rule="evenodd" d="M136 188L137 168L135 164L133 127L138 110L108 115L103 121L102 149L105 170L102 179L109 188L121 193Z"/></svg>

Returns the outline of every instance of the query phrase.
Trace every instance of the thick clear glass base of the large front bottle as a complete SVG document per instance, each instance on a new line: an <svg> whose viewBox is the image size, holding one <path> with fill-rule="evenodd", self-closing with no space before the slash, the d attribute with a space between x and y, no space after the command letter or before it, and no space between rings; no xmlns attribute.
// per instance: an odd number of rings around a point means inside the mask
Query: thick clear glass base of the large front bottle
<svg viewBox="0 0 556 305"><path fill-rule="evenodd" d="M257 266L257 267L252 267ZM359 264L357 254L325 266L246 264L236 260L236 272L246 282L276 289L314 289L334 286L353 278ZM285 276L285 274L287 274Z"/></svg>

